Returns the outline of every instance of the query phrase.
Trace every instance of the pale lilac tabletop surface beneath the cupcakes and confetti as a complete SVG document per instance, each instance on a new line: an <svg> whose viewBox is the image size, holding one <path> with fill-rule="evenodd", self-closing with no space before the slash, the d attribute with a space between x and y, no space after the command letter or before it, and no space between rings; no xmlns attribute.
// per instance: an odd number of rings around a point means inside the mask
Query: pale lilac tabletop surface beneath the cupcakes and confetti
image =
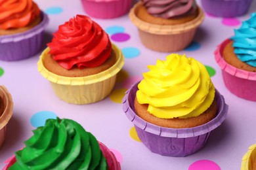
<svg viewBox="0 0 256 170"><path fill-rule="evenodd" d="M76 14L86 14L80 1L36 0L36 2L43 11L51 12L49 9L53 7L62 9L62 12L60 10L59 13L57 12L58 14L49 14L50 22L46 28L45 43L51 41L51 35L58 25ZM198 4L201 6L200 1ZM116 97L123 95L118 92L128 89L130 84L142 77L142 73L148 71L147 65L154 65L156 59L165 59L168 55L168 53L154 52L145 48L140 42L137 28L131 24L127 14L112 20L93 19L103 29L112 26L124 28L123 33L130 35L130 39L129 36L124 35L123 39L129 40L121 42L112 40L119 48L135 47L140 50L139 56L125 58L122 71L129 75L128 78L125 80L119 78L110 97L98 103L70 105L58 99L50 83L37 71L40 53L22 61L0 61L0 69L4 71L0 74L0 84L7 87L14 101L14 113L7 127L7 139L0 149L0 168L5 165L3 161L12 156L14 151L22 148L23 141L32 135L32 129L35 129L30 123L32 116L37 112L51 111L60 118L70 118L79 122L87 131L93 133L98 141L108 148L117 150L120 153L118 158L119 160L121 158L122 169L188 169L192 163L200 160L213 161L221 169L240 169L241 160L247 148L256 143L254 130L256 129L256 102L240 99L226 89L221 68L217 65L213 52L217 44L234 34L234 28L240 27L241 24L236 25L236 22L247 20L249 14L255 11L256 1L253 1L247 14L229 22L234 25L224 25L223 22L228 23L230 20L206 15L194 39L200 44L200 48L178 52L196 58L216 71L211 79L229 105L226 120L211 133L205 147L185 158L154 154L144 144L135 141L129 135L133 123L125 116L121 101L114 102ZM114 36L117 35L113 35L112 38Z"/></svg>

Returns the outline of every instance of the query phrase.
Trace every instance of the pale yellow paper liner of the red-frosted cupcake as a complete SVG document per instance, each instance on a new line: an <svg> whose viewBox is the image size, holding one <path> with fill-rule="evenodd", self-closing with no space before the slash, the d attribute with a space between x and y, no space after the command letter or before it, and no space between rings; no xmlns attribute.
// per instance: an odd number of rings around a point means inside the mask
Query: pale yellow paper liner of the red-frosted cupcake
<svg viewBox="0 0 256 170"><path fill-rule="evenodd" d="M112 44L112 48L116 52L116 63L96 75L67 77L51 73L43 65L49 48L46 48L40 56L37 63L38 71L51 82L54 93L63 101L79 105L95 103L110 94L116 82L116 75L124 65L124 56L121 50L114 44Z"/></svg>

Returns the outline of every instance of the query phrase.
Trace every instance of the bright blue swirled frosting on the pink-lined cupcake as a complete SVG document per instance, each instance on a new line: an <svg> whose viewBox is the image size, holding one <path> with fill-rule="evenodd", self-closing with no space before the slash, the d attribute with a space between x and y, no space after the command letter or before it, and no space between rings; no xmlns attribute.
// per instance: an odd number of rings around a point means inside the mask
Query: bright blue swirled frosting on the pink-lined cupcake
<svg viewBox="0 0 256 170"><path fill-rule="evenodd" d="M256 67L256 13L251 18L242 22L239 29L234 29L234 53L241 61Z"/></svg>

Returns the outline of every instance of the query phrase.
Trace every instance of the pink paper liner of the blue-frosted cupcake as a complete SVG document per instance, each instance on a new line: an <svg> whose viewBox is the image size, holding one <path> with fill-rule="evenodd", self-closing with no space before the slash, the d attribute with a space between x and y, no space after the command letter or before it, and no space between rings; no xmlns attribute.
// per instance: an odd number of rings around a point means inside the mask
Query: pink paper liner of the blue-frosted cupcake
<svg viewBox="0 0 256 170"><path fill-rule="evenodd" d="M221 42L214 52L215 60L222 69L224 84L234 95L243 99L256 101L256 73L238 69L226 63L222 53L228 42L230 42L230 39Z"/></svg>

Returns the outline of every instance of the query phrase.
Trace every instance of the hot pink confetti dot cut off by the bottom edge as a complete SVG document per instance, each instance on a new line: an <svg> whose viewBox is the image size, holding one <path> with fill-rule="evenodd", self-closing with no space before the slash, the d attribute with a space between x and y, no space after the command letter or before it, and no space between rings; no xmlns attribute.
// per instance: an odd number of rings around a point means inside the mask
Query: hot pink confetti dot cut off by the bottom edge
<svg viewBox="0 0 256 170"><path fill-rule="evenodd" d="M219 165L215 163L214 161L210 160L199 160L195 161L192 163L189 167L188 170L221 170Z"/></svg>

